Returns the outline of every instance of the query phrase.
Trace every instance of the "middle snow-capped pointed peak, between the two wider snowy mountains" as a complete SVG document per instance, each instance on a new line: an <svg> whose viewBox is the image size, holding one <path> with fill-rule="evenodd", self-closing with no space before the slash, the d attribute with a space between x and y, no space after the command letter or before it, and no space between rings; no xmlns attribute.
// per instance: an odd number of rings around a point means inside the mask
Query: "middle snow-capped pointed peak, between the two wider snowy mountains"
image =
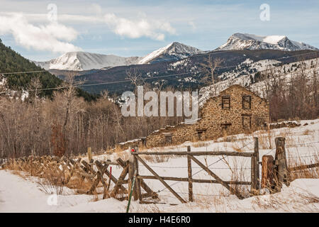
<svg viewBox="0 0 319 227"><path fill-rule="evenodd" d="M189 55L195 55L199 52L202 52L202 50L183 43L174 42L169 43L169 45L164 48L159 48L158 50L151 52L145 57L142 57L139 64L147 64L152 61L154 62L156 61L155 58L159 58L159 60L161 60L161 57L164 57L165 59L180 60L181 58L188 57Z"/></svg>

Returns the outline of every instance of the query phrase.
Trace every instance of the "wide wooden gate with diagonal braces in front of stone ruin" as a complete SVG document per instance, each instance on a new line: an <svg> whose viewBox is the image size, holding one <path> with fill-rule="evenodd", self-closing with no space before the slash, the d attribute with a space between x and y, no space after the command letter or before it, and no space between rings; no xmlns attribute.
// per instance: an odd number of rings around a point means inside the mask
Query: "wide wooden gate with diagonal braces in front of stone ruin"
<svg viewBox="0 0 319 227"><path fill-rule="evenodd" d="M138 150L138 149L133 149ZM187 157L187 170L188 177L161 177L153 170L150 165L147 165L145 160L141 155L176 155L176 156L186 156ZM218 177L211 169L203 165L196 156L235 156L235 157L250 157L251 159L251 181L250 182L240 182L240 181L225 181ZM208 175L213 177L215 180L211 179L194 179L192 175L191 161L195 162L202 170L206 171ZM152 175L139 175L138 163L141 163L149 170ZM166 187L169 192L171 192L179 201L186 203L186 201L181 198L181 196L172 189L172 187L165 182L165 180L178 181L178 182L189 182L189 201L193 201L193 183L210 183L210 184L221 184L223 187L228 189L231 194L235 194L239 199L243 199L244 196L237 192L236 189L231 187L232 184L250 185L251 191L255 192L259 189L259 145L258 138L254 138L254 152L253 153L239 153L239 152L227 152L227 151L191 151L191 147L187 147L187 151L184 152L132 152L130 157L131 174L130 181L133 179L133 172L135 173L135 178L137 179L135 188L133 190L133 196L135 200L139 199L142 201L142 196L140 194L140 182L143 179L157 179L161 182L164 187Z"/></svg>

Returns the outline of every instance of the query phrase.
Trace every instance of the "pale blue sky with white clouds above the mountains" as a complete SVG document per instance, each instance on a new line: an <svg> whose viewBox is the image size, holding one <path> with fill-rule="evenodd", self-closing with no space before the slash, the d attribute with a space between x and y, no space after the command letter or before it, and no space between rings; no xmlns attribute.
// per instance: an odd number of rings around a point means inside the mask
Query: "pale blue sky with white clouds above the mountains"
<svg viewBox="0 0 319 227"><path fill-rule="evenodd" d="M0 39L37 61L70 51L145 56L175 41L213 50L233 33L319 48L318 21L318 0L0 0Z"/></svg>

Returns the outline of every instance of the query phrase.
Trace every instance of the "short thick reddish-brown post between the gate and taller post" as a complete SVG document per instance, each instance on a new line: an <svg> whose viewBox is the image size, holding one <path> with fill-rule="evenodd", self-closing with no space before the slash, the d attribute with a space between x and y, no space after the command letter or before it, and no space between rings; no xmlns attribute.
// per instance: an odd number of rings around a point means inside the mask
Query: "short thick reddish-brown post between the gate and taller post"
<svg viewBox="0 0 319 227"><path fill-rule="evenodd" d="M262 156L262 188L274 189L274 157L272 155Z"/></svg>

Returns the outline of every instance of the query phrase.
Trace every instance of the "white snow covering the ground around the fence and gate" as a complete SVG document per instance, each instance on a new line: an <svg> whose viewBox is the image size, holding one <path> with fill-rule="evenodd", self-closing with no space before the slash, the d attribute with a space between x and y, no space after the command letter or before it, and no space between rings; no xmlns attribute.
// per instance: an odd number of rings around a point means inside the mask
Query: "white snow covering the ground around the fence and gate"
<svg viewBox="0 0 319 227"><path fill-rule="evenodd" d="M253 150L253 136L259 138L259 155L274 155L274 138L286 138L286 155L290 166L296 163L310 164L318 162L319 150L319 119L300 121L301 126L296 128L279 128L271 131L255 132L253 135L233 135L229 138L203 141L198 143L186 142L182 145L153 148L150 150L180 150L185 151L191 145L192 151L205 150ZM269 144L269 136L271 144ZM128 157L128 151L113 155L99 155L94 159L116 160ZM186 157L163 157L149 160L143 157L147 164L160 176L187 177ZM224 180L239 177L242 181L250 181L250 158L248 157L198 157L203 164ZM193 178L212 179L198 165L192 162ZM140 175L151 175L139 165ZM118 177L121 168L113 167L113 174ZM0 170L0 212L125 212L127 201L116 199L100 199L90 195L78 195L70 189L65 189L62 195L55 197L41 190L37 179L26 177L23 179L13 172ZM194 183L194 202L181 204L158 180L145 180L147 185L159 193L161 204L139 204L132 201L131 212L319 212L319 179L295 179L290 187L284 186L281 192L237 199L230 195L227 189L219 184ZM188 183L167 181L182 198L188 200ZM111 184L111 187L113 185ZM249 187L242 187L242 193L248 194ZM169 204L177 204L172 206Z"/></svg>

